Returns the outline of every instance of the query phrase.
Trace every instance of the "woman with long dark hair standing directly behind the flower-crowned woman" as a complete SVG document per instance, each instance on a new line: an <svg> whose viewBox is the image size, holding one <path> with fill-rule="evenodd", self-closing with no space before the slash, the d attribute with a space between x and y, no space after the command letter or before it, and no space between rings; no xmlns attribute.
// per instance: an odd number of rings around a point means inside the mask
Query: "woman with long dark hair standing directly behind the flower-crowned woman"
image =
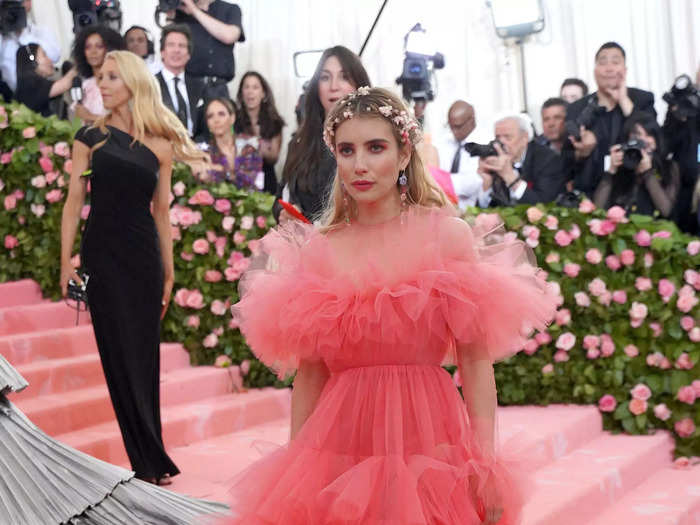
<svg viewBox="0 0 700 525"><path fill-rule="evenodd" d="M301 127L289 143L278 197L295 205L311 220L323 211L336 162L323 143L323 122L335 103L360 86L369 86L360 57L343 46L326 49L306 92ZM280 220L289 218L279 213Z"/></svg>

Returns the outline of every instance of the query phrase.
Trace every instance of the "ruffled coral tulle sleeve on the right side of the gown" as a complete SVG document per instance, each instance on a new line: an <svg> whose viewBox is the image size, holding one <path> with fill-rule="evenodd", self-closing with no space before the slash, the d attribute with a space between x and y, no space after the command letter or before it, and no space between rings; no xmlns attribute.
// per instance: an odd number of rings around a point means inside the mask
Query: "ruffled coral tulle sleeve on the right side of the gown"
<svg viewBox="0 0 700 525"><path fill-rule="evenodd" d="M445 294L448 329L477 358L498 361L522 349L533 329L556 313L557 294L542 277L532 250L505 232L497 215L473 227L447 218L440 228L445 270L454 288ZM456 363L451 352L448 362Z"/></svg>

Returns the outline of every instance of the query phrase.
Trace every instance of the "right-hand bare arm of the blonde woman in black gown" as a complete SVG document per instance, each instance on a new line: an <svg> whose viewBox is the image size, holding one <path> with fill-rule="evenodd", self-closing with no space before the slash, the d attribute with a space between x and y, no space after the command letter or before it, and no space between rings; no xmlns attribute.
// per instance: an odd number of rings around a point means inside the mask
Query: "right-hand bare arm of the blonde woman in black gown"
<svg viewBox="0 0 700 525"><path fill-rule="evenodd" d="M170 302L170 294L175 281L175 266L173 263L173 239L170 230L170 181L173 174L172 146L163 140L158 147L158 185L153 196L153 220L158 229L160 254L163 259L163 299L160 318L165 316Z"/></svg>

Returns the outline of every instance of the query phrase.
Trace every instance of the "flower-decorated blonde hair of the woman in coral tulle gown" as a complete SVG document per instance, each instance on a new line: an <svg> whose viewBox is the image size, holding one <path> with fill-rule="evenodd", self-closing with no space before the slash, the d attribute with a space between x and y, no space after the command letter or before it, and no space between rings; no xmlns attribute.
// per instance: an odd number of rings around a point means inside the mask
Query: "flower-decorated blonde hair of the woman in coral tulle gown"
<svg viewBox="0 0 700 525"><path fill-rule="evenodd" d="M383 119L391 128L399 148L410 148L410 158L405 169L408 178L407 202L413 206L451 206L445 192L435 182L423 165L415 145L421 140L420 126L410 116L404 103L391 91L383 88L361 87L340 99L326 117L324 138L330 150L335 152L335 131L349 118ZM398 173L396 191L399 191ZM326 206L321 215L321 230L330 231L345 222L346 217L357 217L357 205L351 198L345 205L342 183L336 171Z"/></svg>

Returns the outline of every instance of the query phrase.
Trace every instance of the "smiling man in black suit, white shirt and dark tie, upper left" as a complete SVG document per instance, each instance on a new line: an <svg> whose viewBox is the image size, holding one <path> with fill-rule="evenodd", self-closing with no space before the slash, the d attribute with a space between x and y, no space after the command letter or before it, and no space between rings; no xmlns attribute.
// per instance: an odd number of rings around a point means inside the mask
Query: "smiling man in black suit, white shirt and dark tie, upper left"
<svg viewBox="0 0 700 525"><path fill-rule="evenodd" d="M163 103L175 113L195 140L204 134L204 83L185 73L192 55L192 35L189 27L171 24L163 28L160 37L160 57L163 69L156 75Z"/></svg>

